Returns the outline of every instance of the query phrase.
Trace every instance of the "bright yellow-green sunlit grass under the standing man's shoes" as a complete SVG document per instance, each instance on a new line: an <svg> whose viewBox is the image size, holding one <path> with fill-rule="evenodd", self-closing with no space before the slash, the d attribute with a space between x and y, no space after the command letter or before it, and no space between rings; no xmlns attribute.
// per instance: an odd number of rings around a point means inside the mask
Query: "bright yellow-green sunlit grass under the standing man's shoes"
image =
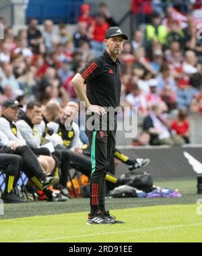
<svg viewBox="0 0 202 256"><path fill-rule="evenodd" d="M42 215L1 221L3 242L202 242L195 205L114 210L125 224L86 225L87 213ZM15 230L15 232L13 232Z"/></svg>

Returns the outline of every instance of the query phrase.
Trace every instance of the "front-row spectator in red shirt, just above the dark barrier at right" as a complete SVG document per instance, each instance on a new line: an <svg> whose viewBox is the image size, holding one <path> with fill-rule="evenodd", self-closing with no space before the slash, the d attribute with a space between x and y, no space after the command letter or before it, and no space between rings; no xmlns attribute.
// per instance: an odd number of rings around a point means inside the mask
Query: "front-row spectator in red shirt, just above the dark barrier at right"
<svg viewBox="0 0 202 256"><path fill-rule="evenodd" d="M178 118L172 121L171 130L174 130L176 134L184 138L186 143L190 143L189 140L189 120L187 119L187 113L182 109L178 111Z"/></svg>

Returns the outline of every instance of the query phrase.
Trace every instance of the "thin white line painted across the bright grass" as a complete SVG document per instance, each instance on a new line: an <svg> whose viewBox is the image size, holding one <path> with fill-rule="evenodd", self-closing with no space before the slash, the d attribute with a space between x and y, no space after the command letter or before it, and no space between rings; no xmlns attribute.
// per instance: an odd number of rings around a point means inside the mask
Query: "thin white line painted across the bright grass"
<svg viewBox="0 0 202 256"><path fill-rule="evenodd" d="M115 224L116 225L116 224ZM124 224L122 224L124 225ZM96 225L93 225L96 226ZM202 226L202 222L195 223L195 224L187 224L187 225L175 225L175 226L165 226L165 227L156 227L156 228L141 228L135 230L122 230L122 231L114 231L114 232L103 232L103 233L94 233L94 234L79 234L77 236L63 236L63 237L56 237L56 238L49 238L49 239L37 239L37 240L29 240L29 241L19 241L19 242L48 242L53 240L63 240L68 238L81 238L81 237L88 237L88 236L97 236L97 235L108 235L108 234L117 234L117 233L135 233L135 232L147 232L147 231L156 231L156 230L166 230L172 228L184 228L184 227L191 227L191 226Z"/></svg>

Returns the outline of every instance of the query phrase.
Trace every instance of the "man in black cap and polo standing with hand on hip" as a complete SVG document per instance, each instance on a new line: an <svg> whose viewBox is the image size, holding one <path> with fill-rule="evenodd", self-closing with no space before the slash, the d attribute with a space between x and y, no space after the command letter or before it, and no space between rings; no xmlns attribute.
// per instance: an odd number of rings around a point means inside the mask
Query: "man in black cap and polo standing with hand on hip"
<svg viewBox="0 0 202 256"><path fill-rule="evenodd" d="M101 126L90 130L86 126L86 134L91 149L92 174L90 176L90 214L87 224L123 223L114 220L105 209L105 176L115 147L116 115L110 116L105 108L119 107L121 96L120 61L117 56L123 49L127 36L119 27L110 27L105 33L106 51L92 59L77 73L72 84L79 100L86 104L86 120L88 112L102 118ZM87 84L87 93L83 84ZM114 128L109 127L109 118L115 120ZM104 120L104 121L103 121ZM96 121L96 120L95 120ZM104 124L103 124L104 123ZM104 129L103 129L103 126Z"/></svg>

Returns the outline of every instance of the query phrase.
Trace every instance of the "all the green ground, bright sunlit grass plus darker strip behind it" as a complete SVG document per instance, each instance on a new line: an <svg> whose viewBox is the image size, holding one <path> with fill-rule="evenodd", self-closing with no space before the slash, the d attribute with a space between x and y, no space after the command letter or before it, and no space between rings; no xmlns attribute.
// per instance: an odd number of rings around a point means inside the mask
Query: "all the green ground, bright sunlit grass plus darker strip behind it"
<svg viewBox="0 0 202 256"><path fill-rule="evenodd" d="M179 199L107 199L125 224L86 225L88 199L5 205L1 242L202 242L196 180L158 182L178 188ZM201 196L202 198L202 196ZM29 216L29 217L28 217Z"/></svg>

